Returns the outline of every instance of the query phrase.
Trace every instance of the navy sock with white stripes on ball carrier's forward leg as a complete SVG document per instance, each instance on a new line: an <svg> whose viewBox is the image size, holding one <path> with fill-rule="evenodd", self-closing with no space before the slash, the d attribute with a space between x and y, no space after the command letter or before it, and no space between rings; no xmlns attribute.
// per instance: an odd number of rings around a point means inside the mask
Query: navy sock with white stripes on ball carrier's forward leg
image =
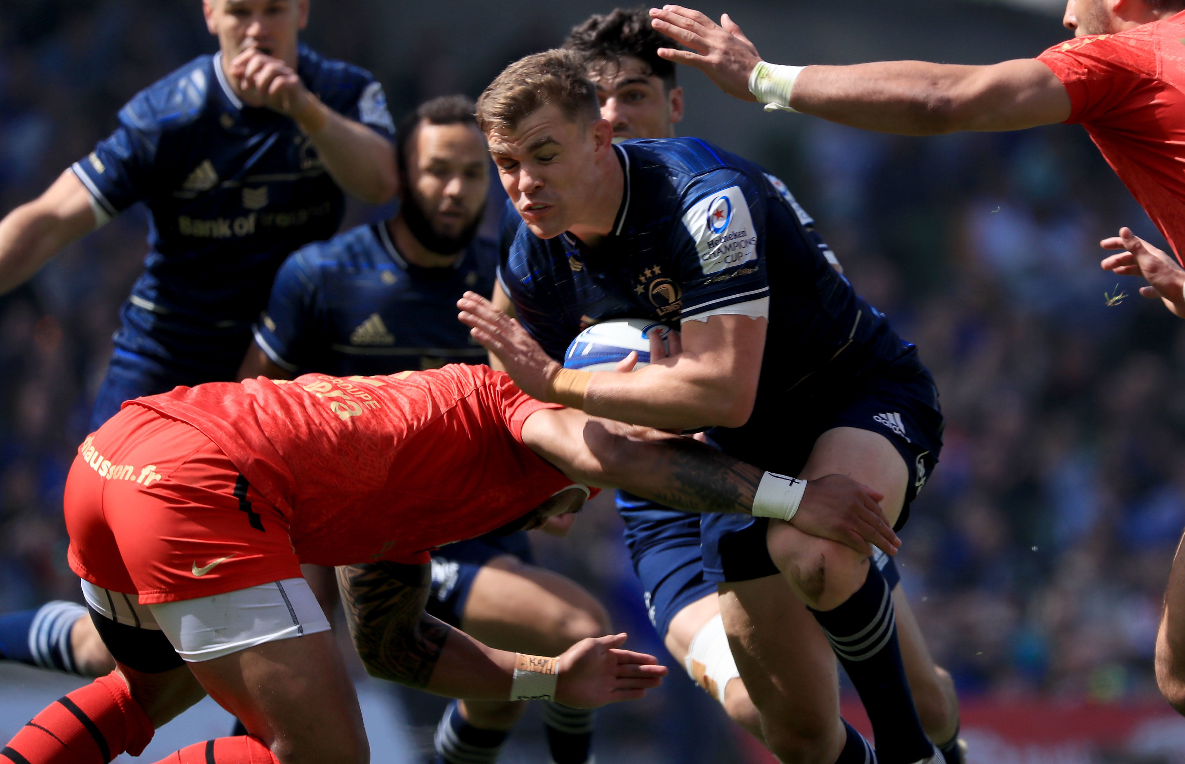
<svg viewBox="0 0 1185 764"><path fill-rule="evenodd" d="M812 612L869 712L880 764L934 756L905 680L892 597L877 566L869 565L864 585L847 602Z"/></svg>

